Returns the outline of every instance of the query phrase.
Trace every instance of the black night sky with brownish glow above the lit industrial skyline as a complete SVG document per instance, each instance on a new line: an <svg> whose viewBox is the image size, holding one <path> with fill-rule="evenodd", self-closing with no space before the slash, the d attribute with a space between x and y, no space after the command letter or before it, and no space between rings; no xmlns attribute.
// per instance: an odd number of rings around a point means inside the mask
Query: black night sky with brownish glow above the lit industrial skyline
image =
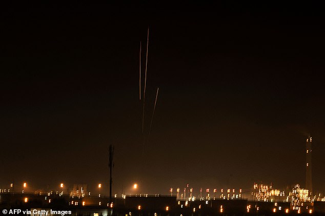
<svg viewBox="0 0 325 216"><path fill-rule="evenodd" d="M325 32L318 5L2 7L1 178L170 187L304 185L325 191ZM150 27L143 153L139 42ZM145 55L143 52L143 60ZM145 61L142 62L144 68ZM144 72L144 71L143 71ZM17 186L18 187L18 186Z"/></svg>

